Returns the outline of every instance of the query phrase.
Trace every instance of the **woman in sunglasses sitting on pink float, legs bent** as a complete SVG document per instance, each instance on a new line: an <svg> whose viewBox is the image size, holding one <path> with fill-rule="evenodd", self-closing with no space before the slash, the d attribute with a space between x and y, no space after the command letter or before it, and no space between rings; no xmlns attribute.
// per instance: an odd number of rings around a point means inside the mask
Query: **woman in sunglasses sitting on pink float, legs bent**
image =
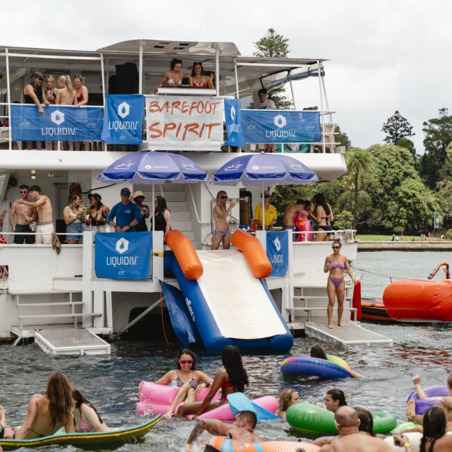
<svg viewBox="0 0 452 452"><path fill-rule="evenodd" d="M182 348L177 355L177 369L167 372L156 385L172 385L179 387L179 392L172 401L164 417L172 417L177 405L181 402L192 403L197 392L209 386L213 380L204 372L196 370L196 360L193 352ZM140 384L141 388L141 384Z"/></svg>

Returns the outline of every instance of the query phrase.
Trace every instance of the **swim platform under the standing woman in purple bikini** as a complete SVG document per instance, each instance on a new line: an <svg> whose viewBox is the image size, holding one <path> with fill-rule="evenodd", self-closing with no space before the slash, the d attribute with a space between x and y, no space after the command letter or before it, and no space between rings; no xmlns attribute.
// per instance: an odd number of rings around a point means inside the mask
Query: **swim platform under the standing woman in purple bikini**
<svg viewBox="0 0 452 452"><path fill-rule="evenodd" d="M389 337L362 328L359 322L344 322L344 327L334 325L328 328L328 320L319 319L305 323L305 334L324 342L339 342L344 345L385 345L392 346L393 341Z"/></svg>

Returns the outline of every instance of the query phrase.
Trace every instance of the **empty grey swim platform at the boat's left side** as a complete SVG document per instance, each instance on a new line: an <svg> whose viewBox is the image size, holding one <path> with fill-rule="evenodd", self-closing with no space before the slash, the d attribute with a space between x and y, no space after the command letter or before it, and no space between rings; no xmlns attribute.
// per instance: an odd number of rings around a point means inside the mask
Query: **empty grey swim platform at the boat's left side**
<svg viewBox="0 0 452 452"><path fill-rule="evenodd" d="M111 346L86 328L35 331L35 344L51 355L110 355Z"/></svg>

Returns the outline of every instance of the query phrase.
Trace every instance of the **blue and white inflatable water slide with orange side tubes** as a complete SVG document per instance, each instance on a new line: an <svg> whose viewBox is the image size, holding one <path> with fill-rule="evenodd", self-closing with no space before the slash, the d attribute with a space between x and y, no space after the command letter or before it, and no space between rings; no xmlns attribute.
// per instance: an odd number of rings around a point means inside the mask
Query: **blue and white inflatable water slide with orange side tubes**
<svg viewBox="0 0 452 452"><path fill-rule="evenodd" d="M173 328L184 346L202 341L210 353L224 346L284 353L293 337L268 291L271 264L259 240L232 234L236 250L198 251L179 231L166 235L165 274L180 291L162 283Z"/></svg>

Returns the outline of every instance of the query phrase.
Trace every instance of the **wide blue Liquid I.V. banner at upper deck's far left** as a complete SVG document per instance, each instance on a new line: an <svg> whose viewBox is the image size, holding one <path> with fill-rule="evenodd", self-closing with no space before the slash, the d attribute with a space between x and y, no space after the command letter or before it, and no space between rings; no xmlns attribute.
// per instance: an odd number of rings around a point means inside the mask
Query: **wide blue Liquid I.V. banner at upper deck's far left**
<svg viewBox="0 0 452 452"><path fill-rule="evenodd" d="M102 108L11 105L11 128L15 141L100 141Z"/></svg>

